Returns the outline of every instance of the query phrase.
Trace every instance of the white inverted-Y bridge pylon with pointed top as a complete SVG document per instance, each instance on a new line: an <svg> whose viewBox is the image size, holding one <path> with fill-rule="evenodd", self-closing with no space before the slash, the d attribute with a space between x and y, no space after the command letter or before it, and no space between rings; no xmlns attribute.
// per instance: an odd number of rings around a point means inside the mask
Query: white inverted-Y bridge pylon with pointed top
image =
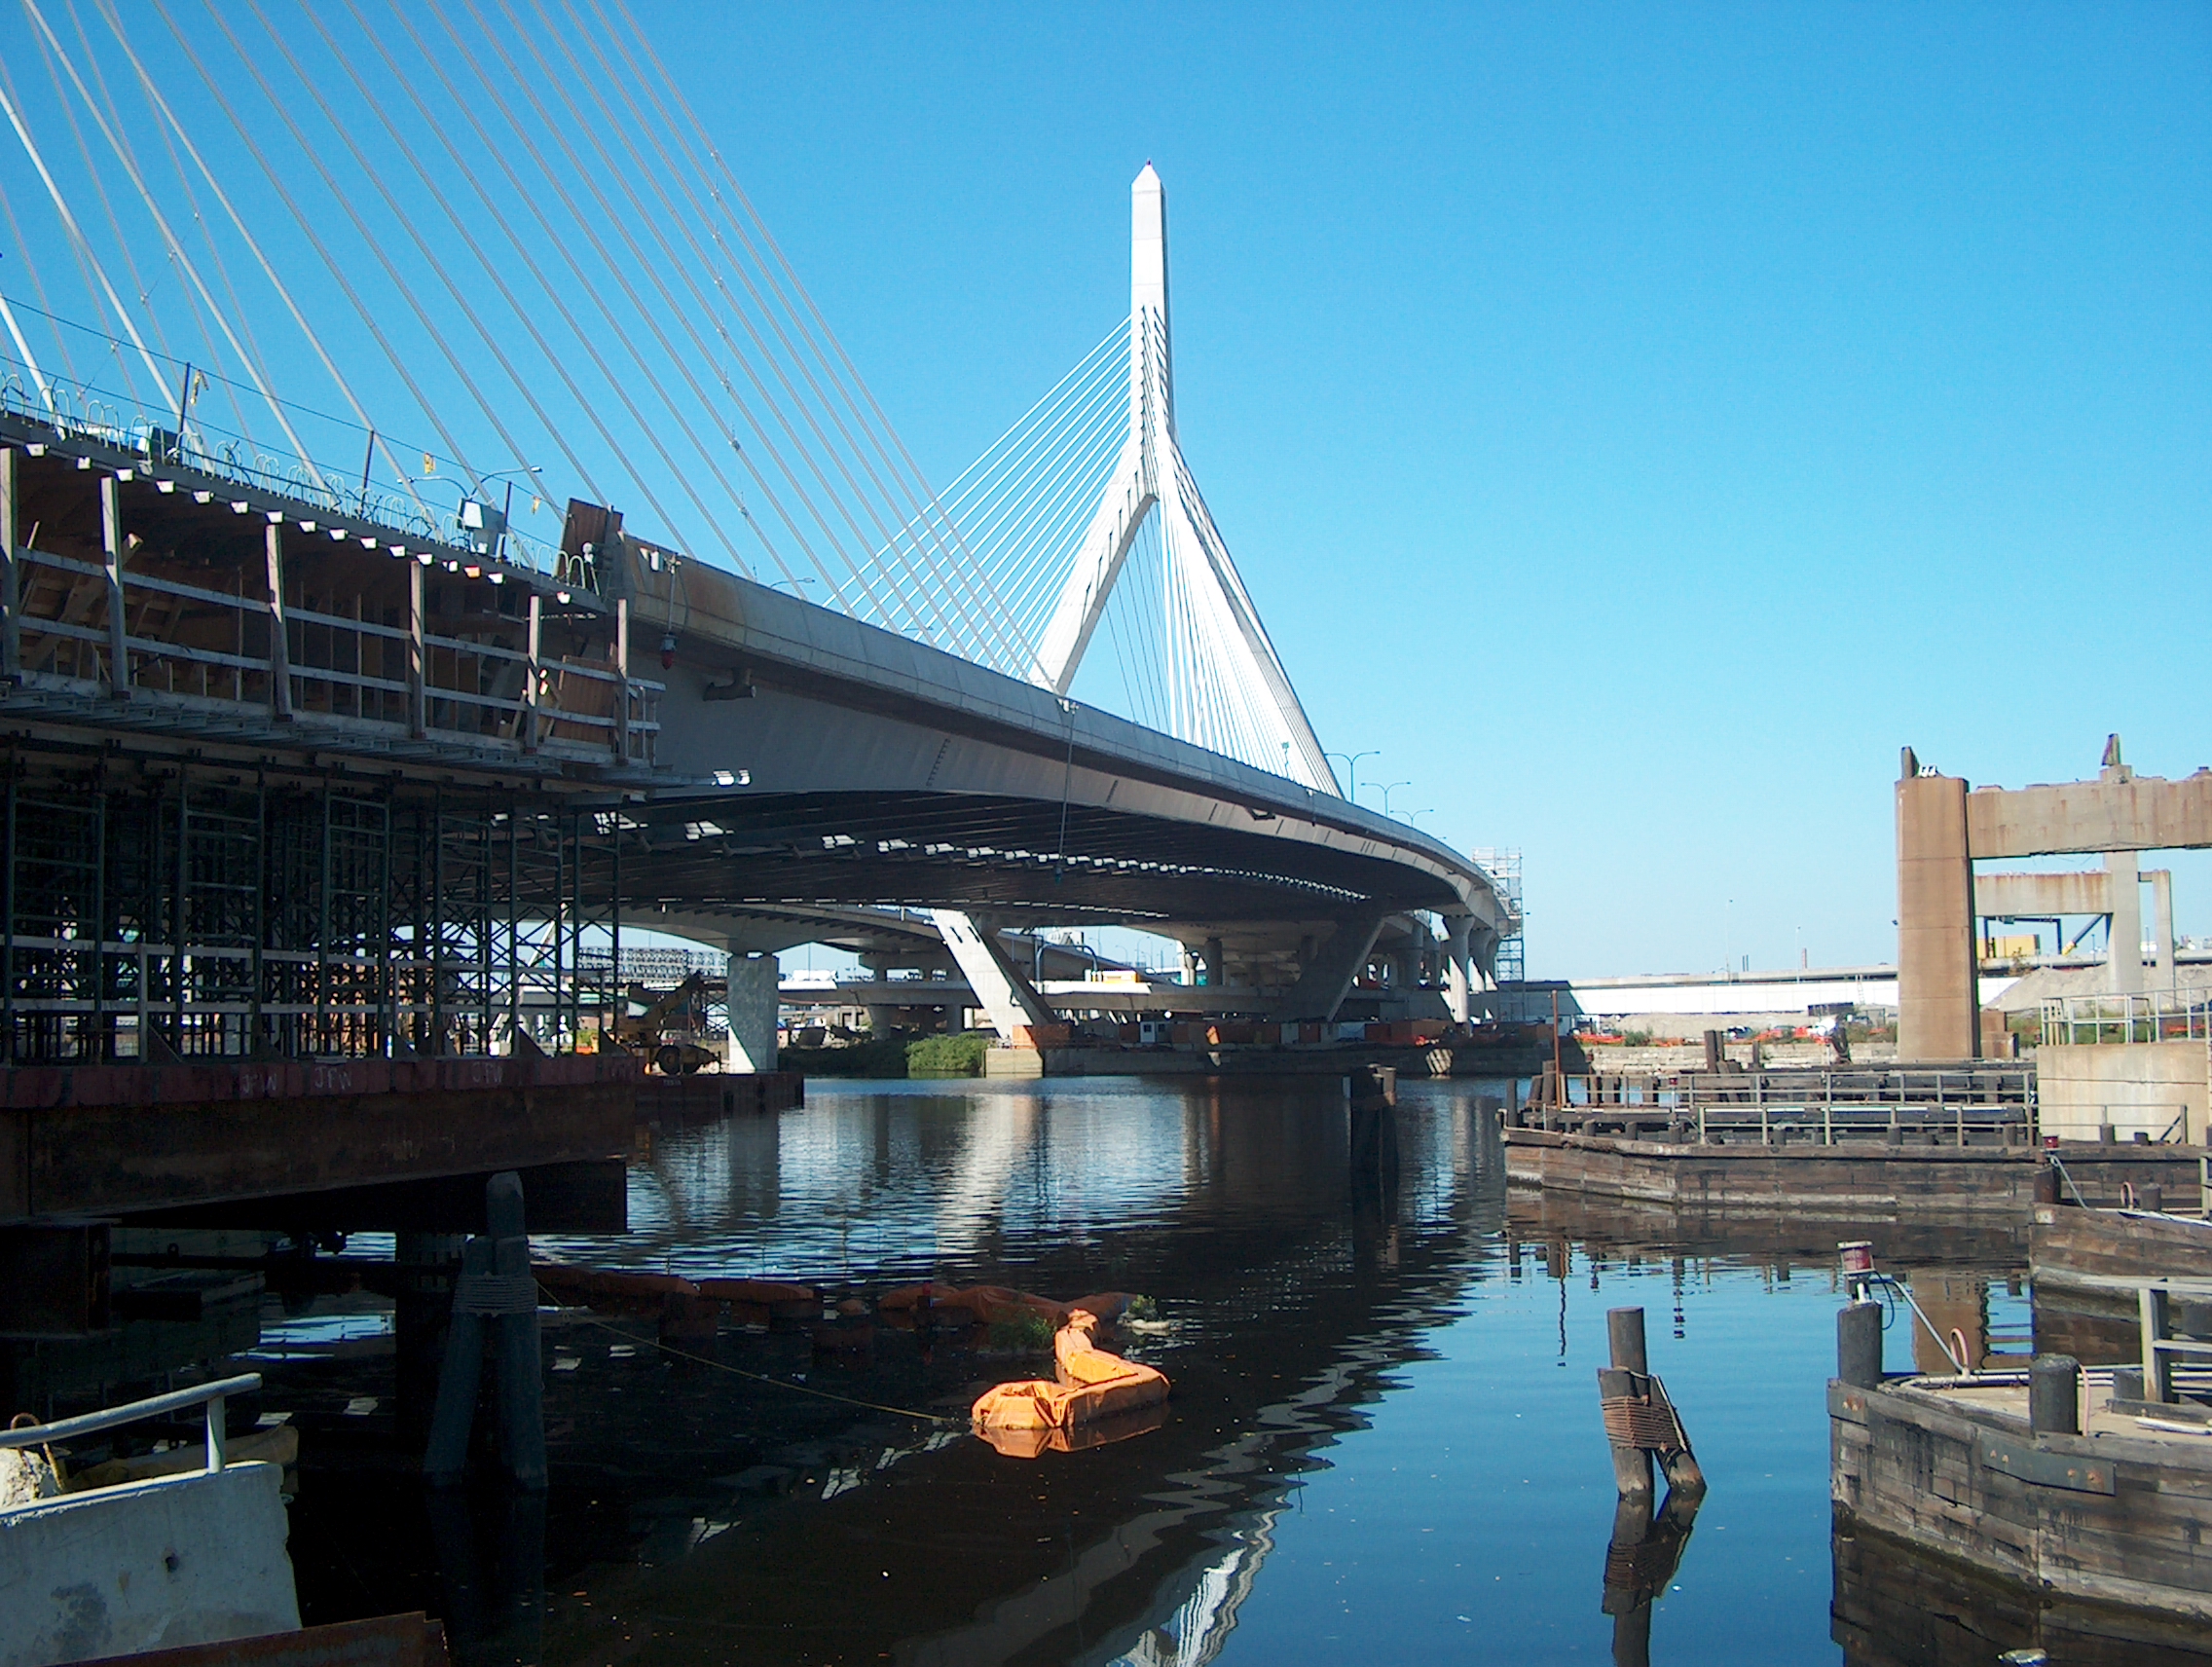
<svg viewBox="0 0 2212 1667"><path fill-rule="evenodd" d="M1152 164L1130 186L1128 290L1128 431L1044 626L1031 679L1068 692L1137 533L1159 515L1170 732L1336 794L1314 725L1175 438L1168 212ZM1259 758L1250 758L1254 752Z"/></svg>

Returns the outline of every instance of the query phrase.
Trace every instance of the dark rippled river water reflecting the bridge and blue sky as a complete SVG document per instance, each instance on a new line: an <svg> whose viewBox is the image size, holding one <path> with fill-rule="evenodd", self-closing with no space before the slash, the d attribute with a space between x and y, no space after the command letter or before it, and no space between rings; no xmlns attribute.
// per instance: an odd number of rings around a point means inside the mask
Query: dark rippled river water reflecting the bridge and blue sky
<svg viewBox="0 0 2212 1667"><path fill-rule="evenodd" d="M1641 1632L1652 1660L1918 1663L2026 1643L2002 1603L1929 1598L1927 1572L1834 1541L1825 1413L1838 1238L1874 1238L1978 1351L2028 1346L2020 1240L1509 1194L1482 1092L1502 1086L1402 1090L1394 1189L1354 1185L1327 1079L810 1083L805 1110L657 1130L633 1234L540 1256L827 1298L1137 1291L1159 1318L1117 1346L1172 1380L1164 1422L1013 1459L964 1408L1051 1375L1018 1340L869 1315L726 1324L672 1355L650 1315L549 1322L551 1492L425 1503L367 1457L310 1468L307 1618L422 1607L467 1663L1604 1663L1639 1658ZM1637 1618L1615 1594L1617 1621L1595 1366L1626 1304L1710 1495L1668 1541L1679 1565L1646 1548L1657 1601ZM1909 1364L1902 1324L1889 1353ZM303 1366L292 1393L374 1393L372 1364Z"/></svg>

